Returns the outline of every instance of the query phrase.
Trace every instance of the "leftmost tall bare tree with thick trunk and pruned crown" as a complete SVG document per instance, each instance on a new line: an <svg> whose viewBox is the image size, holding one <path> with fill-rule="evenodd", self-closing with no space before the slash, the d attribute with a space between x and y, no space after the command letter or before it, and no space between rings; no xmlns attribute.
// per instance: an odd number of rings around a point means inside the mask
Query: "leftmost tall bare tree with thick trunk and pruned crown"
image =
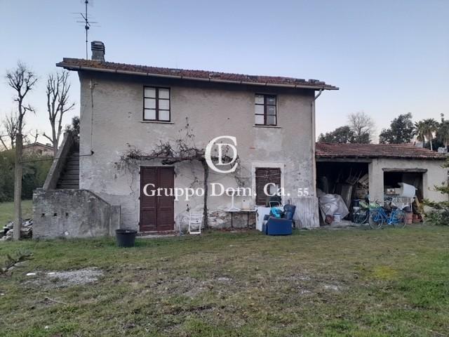
<svg viewBox="0 0 449 337"><path fill-rule="evenodd" d="M22 225L22 129L23 119L27 111L34 112L30 105L25 105L25 97L36 84L37 77L27 65L18 62L17 67L6 72L8 86L15 90L14 101L17 103L17 133L15 136L15 167L14 167L14 228L13 239L20 239Z"/></svg>

